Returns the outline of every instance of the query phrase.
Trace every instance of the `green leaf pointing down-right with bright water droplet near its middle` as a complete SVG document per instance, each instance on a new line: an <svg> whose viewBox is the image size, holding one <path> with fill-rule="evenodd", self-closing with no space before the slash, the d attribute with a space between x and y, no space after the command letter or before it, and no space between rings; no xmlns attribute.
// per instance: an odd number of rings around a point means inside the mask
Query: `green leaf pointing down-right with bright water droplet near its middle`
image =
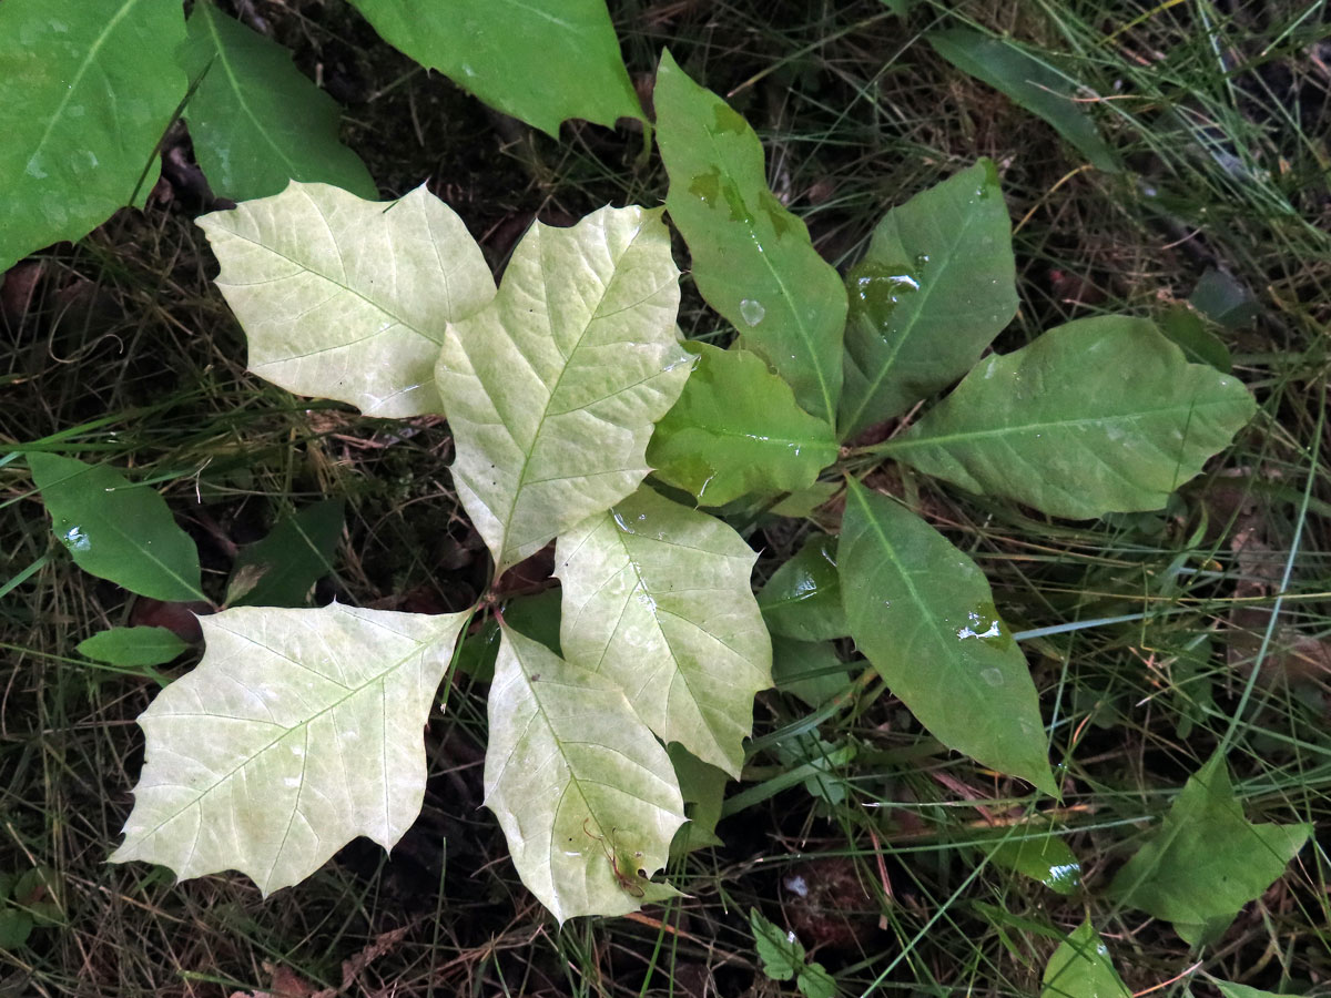
<svg viewBox="0 0 1331 998"><path fill-rule="evenodd" d="M948 748L1055 793L1036 684L980 567L857 482L837 554L851 636L888 688Z"/></svg>

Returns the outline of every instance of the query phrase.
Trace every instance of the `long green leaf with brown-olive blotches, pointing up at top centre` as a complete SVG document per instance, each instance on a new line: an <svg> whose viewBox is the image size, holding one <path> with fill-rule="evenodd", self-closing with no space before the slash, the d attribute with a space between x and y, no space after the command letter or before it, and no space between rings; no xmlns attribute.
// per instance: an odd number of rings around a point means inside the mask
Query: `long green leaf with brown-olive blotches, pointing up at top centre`
<svg viewBox="0 0 1331 998"><path fill-rule="evenodd" d="M655 102L666 206L688 244L697 290L789 382L800 407L833 420L847 310L840 275L767 186L753 129L669 52Z"/></svg>

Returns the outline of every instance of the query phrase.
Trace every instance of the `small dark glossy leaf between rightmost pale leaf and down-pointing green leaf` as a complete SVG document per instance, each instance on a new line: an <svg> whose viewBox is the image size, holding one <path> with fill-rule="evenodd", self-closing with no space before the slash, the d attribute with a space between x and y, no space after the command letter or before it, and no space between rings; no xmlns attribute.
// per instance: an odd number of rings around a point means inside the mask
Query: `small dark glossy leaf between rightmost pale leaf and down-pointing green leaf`
<svg viewBox="0 0 1331 998"><path fill-rule="evenodd" d="M777 568L759 592L757 604L773 635L823 641L851 633L841 605L836 538L815 534Z"/></svg>

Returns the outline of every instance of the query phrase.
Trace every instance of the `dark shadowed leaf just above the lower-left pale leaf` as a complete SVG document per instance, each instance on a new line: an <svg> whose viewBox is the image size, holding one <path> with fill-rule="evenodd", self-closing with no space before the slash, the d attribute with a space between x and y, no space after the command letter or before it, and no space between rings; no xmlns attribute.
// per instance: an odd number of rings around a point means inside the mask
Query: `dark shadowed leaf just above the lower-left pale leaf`
<svg viewBox="0 0 1331 998"><path fill-rule="evenodd" d="M314 584L333 571L342 536L341 499L325 499L278 520L236 558L226 603L232 607L307 607Z"/></svg>

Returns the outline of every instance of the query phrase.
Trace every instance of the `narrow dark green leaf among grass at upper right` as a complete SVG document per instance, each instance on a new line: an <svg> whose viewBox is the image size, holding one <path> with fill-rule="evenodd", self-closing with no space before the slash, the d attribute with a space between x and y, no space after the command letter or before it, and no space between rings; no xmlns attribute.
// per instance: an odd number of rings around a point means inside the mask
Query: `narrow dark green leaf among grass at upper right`
<svg viewBox="0 0 1331 998"><path fill-rule="evenodd" d="M1071 142L1093 166L1106 173L1122 169L1118 156L1101 137L1066 76L1002 39L985 37L969 28L925 35L934 52L957 69L1008 94L1014 104L1038 114Z"/></svg>

